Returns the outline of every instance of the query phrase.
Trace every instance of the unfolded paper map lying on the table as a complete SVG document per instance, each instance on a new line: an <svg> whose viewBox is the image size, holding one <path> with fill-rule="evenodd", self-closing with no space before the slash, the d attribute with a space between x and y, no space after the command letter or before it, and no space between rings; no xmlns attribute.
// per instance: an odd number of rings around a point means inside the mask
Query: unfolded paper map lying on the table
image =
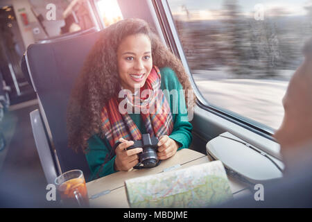
<svg viewBox="0 0 312 222"><path fill-rule="evenodd" d="M233 198L219 160L125 180L130 207L211 207Z"/></svg>

